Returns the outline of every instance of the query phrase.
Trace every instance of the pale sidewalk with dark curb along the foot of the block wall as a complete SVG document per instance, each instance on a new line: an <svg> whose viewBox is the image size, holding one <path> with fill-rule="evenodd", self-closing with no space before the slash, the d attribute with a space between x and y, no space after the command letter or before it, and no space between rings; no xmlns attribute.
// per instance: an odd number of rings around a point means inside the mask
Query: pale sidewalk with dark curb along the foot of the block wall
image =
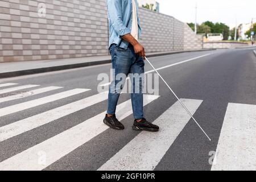
<svg viewBox="0 0 256 182"><path fill-rule="evenodd" d="M214 49L156 52L156 53L148 53L147 57L171 55L174 53L210 51L210 50L214 50ZM77 58L70 58L70 59L6 62L6 63L0 63L0 78L21 76L21 75L31 75L35 73L88 67L91 65L99 65L99 64L107 64L107 63L110 63L109 55L93 56L93 57L77 57Z"/></svg>

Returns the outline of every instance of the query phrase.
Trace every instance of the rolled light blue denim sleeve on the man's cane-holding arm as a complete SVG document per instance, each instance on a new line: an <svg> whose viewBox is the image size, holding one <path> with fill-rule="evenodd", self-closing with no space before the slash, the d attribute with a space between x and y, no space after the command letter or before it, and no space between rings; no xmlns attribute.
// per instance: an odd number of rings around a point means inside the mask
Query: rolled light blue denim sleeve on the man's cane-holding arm
<svg viewBox="0 0 256 182"><path fill-rule="evenodd" d="M113 24L118 36L130 34L130 28L127 28L122 20L122 6L119 0L107 0L109 21Z"/></svg>

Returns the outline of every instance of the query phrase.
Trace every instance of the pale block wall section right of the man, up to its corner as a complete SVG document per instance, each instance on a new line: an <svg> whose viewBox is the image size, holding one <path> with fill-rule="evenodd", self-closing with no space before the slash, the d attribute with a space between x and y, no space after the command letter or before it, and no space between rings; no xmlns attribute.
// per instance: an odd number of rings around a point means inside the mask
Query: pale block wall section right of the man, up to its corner
<svg viewBox="0 0 256 182"><path fill-rule="evenodd" d="M172 16L139 9L142 37L147 52L166 52L183 49L184 23Z"/></svg>

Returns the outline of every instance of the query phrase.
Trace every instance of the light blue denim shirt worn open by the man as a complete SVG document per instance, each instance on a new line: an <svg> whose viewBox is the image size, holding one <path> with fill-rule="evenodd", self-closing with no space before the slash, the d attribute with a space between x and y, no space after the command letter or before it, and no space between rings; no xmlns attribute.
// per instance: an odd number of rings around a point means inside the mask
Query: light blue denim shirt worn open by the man
<svg viewBox="0 0 256 182"><path fill-rule="evenodd" d="M133 3L132 0L106 0L108 6L109 19L109 47L111 44L117 44L119 47L127 49L129 42L123 40L121 36L131 33L133 22ZM141 26L138 15L137 3L137 19L138 19L138 35L141 36Z"/></svg>

